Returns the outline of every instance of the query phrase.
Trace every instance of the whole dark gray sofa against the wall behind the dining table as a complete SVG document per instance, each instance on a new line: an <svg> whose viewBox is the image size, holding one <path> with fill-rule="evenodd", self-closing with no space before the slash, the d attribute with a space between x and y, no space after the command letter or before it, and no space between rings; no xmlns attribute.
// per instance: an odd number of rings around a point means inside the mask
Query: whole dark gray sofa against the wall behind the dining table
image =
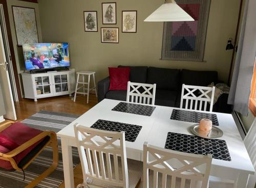
<svg viewBox="0 0 256 188"><path fill-rule="evenodd" d="M127 67L121 66L118 67ZM156 83L155 105L180 107L182 84L207 86L211 82L218 83L216 71L196 71L188 69L157 68L147 66L131 67L130 81L137 83ZM126 101L126 90L109 90L109 77L98 82L98 101L114 99ZM214 105L213 111L230 113L227 94L221 95Z"/></svg>

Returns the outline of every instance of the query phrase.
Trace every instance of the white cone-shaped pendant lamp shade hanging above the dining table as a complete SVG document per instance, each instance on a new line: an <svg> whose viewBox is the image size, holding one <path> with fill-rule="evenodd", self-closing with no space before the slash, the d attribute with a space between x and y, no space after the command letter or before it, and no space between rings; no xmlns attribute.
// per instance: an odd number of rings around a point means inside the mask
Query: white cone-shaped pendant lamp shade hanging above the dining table
<svg viewBox="0 0 256 188"><path fill-rule="evenodd" d="M175 1L165 1L155 12L144 21L195 21Z"/></svg>

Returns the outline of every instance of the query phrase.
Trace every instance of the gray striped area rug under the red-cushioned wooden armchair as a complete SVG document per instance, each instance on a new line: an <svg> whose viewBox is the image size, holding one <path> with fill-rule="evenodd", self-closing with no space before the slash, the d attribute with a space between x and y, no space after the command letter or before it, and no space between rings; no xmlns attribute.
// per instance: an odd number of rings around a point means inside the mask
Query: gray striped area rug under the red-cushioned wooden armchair
<svg viewBox="0 0 256 188"><path fill-rule="evenodd" d="M22 121L22 123L40 130L49 130L58 132L62 128L69 125L71 122L76 120L79 115L51 112L51 111L40 111L30 116L28 119ZM64 180L63 176L63 163L61 155L60 140L58 140L59 146L59 162L57 169L50 174L47 178L42 180L36 187L43 188L57 188ZM79 155L76 148L73 150L73 168L79 163ZM46 148L40 153L40 155L31 163L31 165L25 170L26 179L23 181L23 172L7 172L0 170L0 187L4 188L22 188L31 182L35 177L44 172L51 166L52 163L52 149Z"/></svg>

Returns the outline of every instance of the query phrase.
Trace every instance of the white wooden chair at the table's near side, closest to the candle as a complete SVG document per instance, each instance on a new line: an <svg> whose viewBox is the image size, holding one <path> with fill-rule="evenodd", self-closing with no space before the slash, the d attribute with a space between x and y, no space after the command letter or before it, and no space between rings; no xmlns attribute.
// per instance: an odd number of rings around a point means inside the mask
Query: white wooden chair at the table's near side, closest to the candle
<svg viewBox="0 0 256 188"><path fill-rule="evenodd" d="M211 160L211 155L183 153L144 143L143 188L206 188Z"/></svg>

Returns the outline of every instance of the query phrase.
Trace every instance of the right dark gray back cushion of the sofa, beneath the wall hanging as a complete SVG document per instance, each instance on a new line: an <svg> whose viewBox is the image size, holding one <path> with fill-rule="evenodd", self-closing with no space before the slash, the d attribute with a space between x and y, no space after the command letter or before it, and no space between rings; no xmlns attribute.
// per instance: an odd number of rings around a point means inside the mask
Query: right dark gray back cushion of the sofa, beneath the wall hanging
<svg viewBox="0 0 256 188"><path fill-rule="evenodd" d="M181 70L181 85L198 85L198 86L207 86L211 82L218 82L218 73L217 71L199 71L199 70Z"/></svg>

